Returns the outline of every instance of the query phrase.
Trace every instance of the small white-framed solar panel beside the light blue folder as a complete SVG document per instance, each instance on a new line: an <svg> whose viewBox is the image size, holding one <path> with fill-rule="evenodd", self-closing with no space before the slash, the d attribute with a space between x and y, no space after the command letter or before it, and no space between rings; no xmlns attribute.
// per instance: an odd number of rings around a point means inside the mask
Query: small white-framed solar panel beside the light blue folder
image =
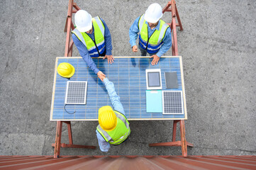
<svg viewBox="0 0 256 170"><path fill-rule="evenodd" d="M162 114L184 114L182 91L162 91Z"/></svg>

